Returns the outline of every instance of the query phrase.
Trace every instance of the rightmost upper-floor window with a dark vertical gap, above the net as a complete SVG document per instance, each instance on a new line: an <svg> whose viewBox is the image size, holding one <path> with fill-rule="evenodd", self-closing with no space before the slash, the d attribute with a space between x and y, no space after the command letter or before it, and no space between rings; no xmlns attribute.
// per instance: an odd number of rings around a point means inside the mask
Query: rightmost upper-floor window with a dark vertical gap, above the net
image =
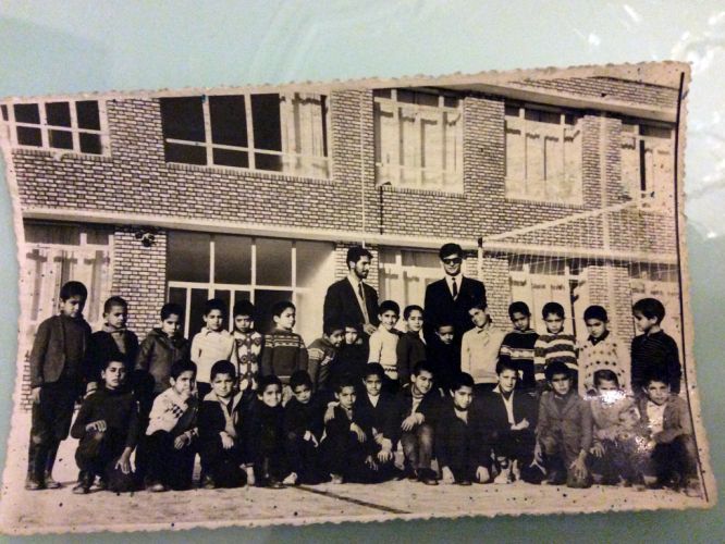
<svg viewBox="0 0 725 544"><path fill-rule="evenodd" d="M643 208L672 206L675 175L671 127L622 124L622 182Z"/></svg>

